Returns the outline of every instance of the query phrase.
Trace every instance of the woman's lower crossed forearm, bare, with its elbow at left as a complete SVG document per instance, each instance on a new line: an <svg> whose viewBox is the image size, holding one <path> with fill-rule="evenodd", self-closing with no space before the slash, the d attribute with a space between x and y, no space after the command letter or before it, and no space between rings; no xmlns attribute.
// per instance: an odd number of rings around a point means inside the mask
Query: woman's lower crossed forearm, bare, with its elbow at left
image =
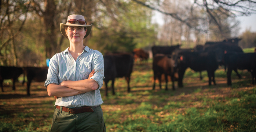
<svg viewBox="0 0 256 132"><path fill-rule="evenodd" d="M55 83L51 83L47 86L47 92L49 96L58 96L58 97L74 96L81 93L86 93L86 92L71 89L65 86L57 85Z"/></svg>

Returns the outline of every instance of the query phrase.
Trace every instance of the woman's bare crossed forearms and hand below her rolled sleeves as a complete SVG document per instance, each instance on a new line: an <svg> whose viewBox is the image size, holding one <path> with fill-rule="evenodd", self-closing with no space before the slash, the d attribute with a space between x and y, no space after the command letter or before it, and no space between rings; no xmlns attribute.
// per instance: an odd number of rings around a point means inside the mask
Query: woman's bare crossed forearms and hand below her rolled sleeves
<svg viewBox="0 0 256 132"><path fill-rule="evenodd" d="M48 95L55 96L56 99L57 97L74 96L96 90L99 87L98 83L90 79L94 73L95 70L93 70L89 78L85 80L63 81L60 84L51 83L47 86Z"/></svg>

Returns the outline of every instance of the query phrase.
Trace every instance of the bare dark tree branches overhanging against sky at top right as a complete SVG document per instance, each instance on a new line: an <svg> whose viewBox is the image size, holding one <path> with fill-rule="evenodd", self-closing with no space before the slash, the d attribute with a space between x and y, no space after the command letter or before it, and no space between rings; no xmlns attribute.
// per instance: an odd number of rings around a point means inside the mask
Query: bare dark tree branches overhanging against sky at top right
<svg viewBox="0 0 256 132"><path fill-rule="evenodd" d="M194 0L194 4L190 7L191 12L197 8L201 8L207 15L191 15L191 14L180 14L179 12L166 12L162 8L162 1L156 0L133 0L140 5L146 6L153 10L162 12L163 14L170 15L172 18L179 20L180 22L186 24L189 28L200 32L207 32L206 27L201 27L199 25L204 25L203 23L207 21L212 22L217 27L222 36L227 38L224 34L225 25L223 25L221 16L226 17L236 17L241 15L251 15L256 13L254 7L256 2L252 0ZM199 20L194 22L194 20Z"/></svg>

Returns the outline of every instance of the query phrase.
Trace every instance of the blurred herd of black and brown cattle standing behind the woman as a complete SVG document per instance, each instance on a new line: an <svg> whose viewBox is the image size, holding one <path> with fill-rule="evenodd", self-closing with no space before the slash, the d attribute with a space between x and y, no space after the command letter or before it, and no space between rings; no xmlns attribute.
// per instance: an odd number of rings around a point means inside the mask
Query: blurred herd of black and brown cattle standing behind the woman
<svg viewBox="0 0 256 132"><path fill-rule="evenodd" d="M237 76L241 75L237 69L247 69L252 75L252 84L256 76L256 53L243 53L238 46L240 39L229 39L222 42L207 42L204 46L196 46L193 49L181 49L177 46L153 46L153 73L155 89L155 80L161 79L162 74L166 80L166 90L168 89L168 77L171 77L172 87L175 90L174 82L178 81L178 86L183 87L183 76L186 69L200 72L206 70L209 77L209 85L211 82L216 85L214 72L219 66L228 68L227 79L228 86L231 86L231 73L234 70ZM114 92L115 78L125 77L127 81L127 92L130 92L130 75L133 70L134 60L147 60L148 53L142 49L134 49L133 53L107 53L104 55L104 82L106 86L105 96L108 95L108 82L112 80L112 94ZM13 90L15 90L15 80L24 73L27 76L27 95L30 95L30 84L32 80L42 82L46 80L48 67L7 67L0 66L0 84L3 90L2 82L4 79L13 80ZM23 81L24 84L24 81ZM161 88L161 81L159 81Z"/></svg>

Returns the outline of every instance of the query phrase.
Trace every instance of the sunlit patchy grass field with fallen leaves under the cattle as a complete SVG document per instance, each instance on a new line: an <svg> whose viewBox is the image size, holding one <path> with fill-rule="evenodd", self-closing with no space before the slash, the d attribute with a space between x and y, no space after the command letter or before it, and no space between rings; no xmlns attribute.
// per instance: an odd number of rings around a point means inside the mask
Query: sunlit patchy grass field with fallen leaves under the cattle
<svg viewBox="0 0 256 132"><path fill-rule="evenodd" d="M116 95L111 90L104 96L102 109L107 131L194 132L194 131L256 131L256 87L251 74L239 71L242 79L232 73L232 87L227 86L224 69L215 72L216 86L208 86L207 73L187 69L184 87L165 91L158 83L152 90L152 64L133 68L131 92L127 93L124 78L115 82ZM108 84L111 85L110 83ZM49 131L55 100L49 97L44 82L31 84L31 96L17 83L12 91L10 81L0 93L0 132Z"/></svg>

